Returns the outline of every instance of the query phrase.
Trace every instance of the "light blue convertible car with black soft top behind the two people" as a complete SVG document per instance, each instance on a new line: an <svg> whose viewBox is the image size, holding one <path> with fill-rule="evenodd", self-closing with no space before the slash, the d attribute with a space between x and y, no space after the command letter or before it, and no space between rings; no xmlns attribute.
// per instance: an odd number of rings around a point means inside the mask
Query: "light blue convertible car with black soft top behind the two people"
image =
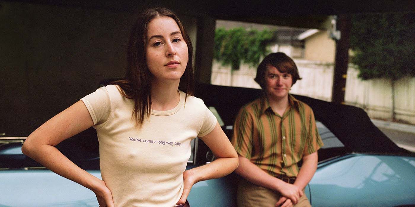
<svg viewBox="0 0 415 207"><path fill-rule="evenodd" d="M260 93L258 89L197 84L195 96L211 108L230 137L239 108ZM319 150L317 171L305 189L312 206L415 207L414 153L389 140L360 108L295 97L313 109L325 144ZM0 137L0 207L98 206L92 191L23 155L24 136ZM61 142L57 148L100 178L98 140L93 128ZM213 159L203 141L195 138L187 169ZM196 183L188 197L190 205L236 206L237 179L232 173Z"/></svg>

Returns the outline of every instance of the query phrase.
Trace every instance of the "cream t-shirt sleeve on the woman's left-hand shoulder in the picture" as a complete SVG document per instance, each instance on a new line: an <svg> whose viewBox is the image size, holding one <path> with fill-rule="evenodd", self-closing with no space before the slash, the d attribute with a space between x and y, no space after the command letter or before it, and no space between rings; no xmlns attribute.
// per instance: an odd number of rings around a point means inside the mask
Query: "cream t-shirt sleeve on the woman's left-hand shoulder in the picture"
<svg viewBox="0 0 415 207"><path fill-rule="evenodd" d="M100 87L95 92L81 99L94 122L94 128L101 128L110 116L111 101L106 87Z"/></svg>

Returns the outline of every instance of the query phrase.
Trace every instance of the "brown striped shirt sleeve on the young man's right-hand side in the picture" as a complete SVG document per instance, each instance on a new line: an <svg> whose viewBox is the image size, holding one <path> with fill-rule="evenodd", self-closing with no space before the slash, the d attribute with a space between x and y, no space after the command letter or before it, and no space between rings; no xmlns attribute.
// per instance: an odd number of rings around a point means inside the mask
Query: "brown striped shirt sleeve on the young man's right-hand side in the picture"
<svg viewBox="0 0 415 207"><path fill-rule="evenodd" d="M308 118L308 137L307 144L304 148L303 156L317 152L317 150L324 145L323 141L321 140L320 134L318 133L317 126L315 124L314 113L311 108Z"/></svg>

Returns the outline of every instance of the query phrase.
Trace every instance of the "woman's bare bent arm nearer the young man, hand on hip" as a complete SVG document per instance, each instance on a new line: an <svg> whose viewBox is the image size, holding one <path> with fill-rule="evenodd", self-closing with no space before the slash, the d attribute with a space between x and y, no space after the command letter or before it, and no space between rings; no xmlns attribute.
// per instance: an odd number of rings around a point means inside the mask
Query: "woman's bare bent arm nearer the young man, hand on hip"
<svg viewBox="0 0 415 207"><path fill-rule="evenodd" d="M209 134L200 139L205 142L207 147L213 152L216 159L210 164L192 168L184 171L184 189L183 194L177 204L184 204L187 196L190 193L190 188L199 182L209 179L221 178L232 173L238 167L238 155L228 137L220 128L219 123L216 123L215 128Z"/></svg>

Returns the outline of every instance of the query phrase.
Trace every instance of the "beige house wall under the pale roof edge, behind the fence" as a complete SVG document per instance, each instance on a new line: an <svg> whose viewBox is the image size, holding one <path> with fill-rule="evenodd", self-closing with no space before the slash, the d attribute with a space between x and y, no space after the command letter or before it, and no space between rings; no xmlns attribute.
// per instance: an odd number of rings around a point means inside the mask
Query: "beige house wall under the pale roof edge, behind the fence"
<svg viewBox="0 0 415 207"><path fill-rule="evenodd" d="M319 31L305 39L304 58L334 63L336 43L329 38L327 31Z"/></svg>

